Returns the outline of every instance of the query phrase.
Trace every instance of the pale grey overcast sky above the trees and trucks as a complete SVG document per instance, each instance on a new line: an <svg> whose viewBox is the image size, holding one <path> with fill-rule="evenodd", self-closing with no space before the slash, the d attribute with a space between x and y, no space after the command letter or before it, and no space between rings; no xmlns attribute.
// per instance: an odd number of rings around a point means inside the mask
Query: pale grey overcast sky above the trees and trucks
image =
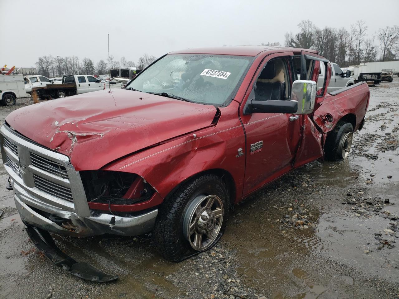
<svg viewBox="0 0 399 299"><path fill-rule="evenodd" d="M399 0L115 1L0 0L0 64L34 67L39 56L111 55L134 62L143 53L222 45L259 45L316 26L347 29L365 20L372 34L399 25Z"/></svg>

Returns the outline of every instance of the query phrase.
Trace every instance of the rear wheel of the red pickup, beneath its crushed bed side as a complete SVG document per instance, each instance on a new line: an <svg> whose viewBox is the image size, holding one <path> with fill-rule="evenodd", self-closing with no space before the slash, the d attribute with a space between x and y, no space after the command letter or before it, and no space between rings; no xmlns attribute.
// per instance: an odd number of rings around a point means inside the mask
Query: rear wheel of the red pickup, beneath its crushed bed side
<svg viewBox="0 0 399 299"><path fill-rule="evenodd" d="M346 159L352 147L353 126L348 122L339 122L334 130L328 134L324 152L326 159L338 161Z"/></svg>

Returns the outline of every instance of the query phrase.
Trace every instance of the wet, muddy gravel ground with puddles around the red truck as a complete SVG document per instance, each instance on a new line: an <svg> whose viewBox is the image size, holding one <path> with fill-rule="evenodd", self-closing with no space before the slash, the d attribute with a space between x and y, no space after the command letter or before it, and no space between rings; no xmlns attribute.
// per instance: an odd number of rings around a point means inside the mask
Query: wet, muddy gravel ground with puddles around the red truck
<svg viewBox="0 0 399 299"><path fill-rule="evenodd" d="M0 297L399 298L399 80L370 91L348 159L312 162L246 199L207 252L174 264L151 234L55 238L73 258L118 274L114 283L77 279L43 258L3 189ZM1 107L0 117L15 108Z"/></svg>

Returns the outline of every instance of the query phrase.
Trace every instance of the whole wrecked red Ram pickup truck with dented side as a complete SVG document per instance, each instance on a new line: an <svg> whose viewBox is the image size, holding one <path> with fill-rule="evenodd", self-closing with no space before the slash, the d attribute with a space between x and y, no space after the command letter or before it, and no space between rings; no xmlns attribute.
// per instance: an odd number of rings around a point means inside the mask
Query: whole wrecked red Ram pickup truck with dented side
<svg viewBox="0 0 399 299"><path fill-rule="evenodd" d="M330 63L307 49L188 49L160 57L124 89L20 108L0 136L16 207L47 254L46 232L153 231L172 261L207 250L231 205L310 161L348 156L369 88L327 93L330 76Z"/></svg>

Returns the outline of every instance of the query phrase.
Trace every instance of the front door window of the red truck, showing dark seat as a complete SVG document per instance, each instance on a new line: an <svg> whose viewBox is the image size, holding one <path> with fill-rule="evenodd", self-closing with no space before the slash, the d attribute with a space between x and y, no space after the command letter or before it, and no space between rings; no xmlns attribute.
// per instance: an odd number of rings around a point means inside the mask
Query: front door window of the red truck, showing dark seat
<svg viewBox="0 0 399 299"><path fill-rule="evenodd" d="M267 62L255 84L255 100L288 100L290 79L286 59Z"/></svg>

